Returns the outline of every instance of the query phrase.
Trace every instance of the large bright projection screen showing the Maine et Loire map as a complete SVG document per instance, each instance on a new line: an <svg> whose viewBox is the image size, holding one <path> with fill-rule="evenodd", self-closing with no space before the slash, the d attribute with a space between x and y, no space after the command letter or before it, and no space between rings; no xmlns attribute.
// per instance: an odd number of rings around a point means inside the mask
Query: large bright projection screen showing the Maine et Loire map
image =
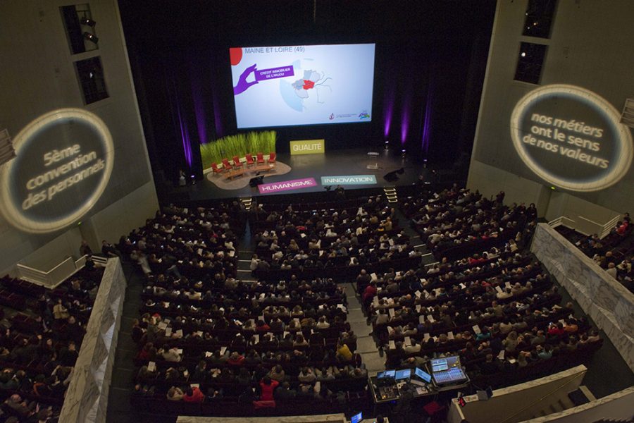
<svg viewBox="0 0 634 423"><path fill-rule="evenodd" d="M232 47L237 128L371 121L375 44Z"/></svg>

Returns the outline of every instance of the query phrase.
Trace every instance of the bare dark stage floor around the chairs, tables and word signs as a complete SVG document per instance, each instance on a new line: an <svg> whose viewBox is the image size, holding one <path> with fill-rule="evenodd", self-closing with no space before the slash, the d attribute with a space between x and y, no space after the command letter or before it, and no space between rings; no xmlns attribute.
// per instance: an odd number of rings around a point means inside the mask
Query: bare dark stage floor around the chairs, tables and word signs
<svg viewBox="0 0 634 423"><path fill-rule="evenodd" d="M395 149L378 150L378 157L375 159L368 156L368 150L365 149L341 149L326 152L325 154L302 154L291 156L290 153L278 154L277 161L280 164L290 166L290 171L282 175L266 175L263 183L280 183L287 180L296 180L302 178L315 178L317 185L313 187L300 188L296 190L287 190L275 192L275 194L295 194L306 192L323 192L324 186L321 185L322 176L356 176L356 175L374 175L375 184L366 185L342 185L345 190L359 190L368 188L383 188L386 186L402 186L412 185L416 183L419 175L423 175L428 179L430 168L425 168L420 160L414 160L410 157L402 157L400 152ZM368 169L368 164L378 164L378 169ZM283 166L280 166L283 167ZM403 168L404 172L398 174L398 180L389 182L383 178L386 173L397 171ZM178 187L174 185L163 186L163 194L173 201L201 201L235 197L259 197L262 195L256 187L251 187L248 180L254 175L244 174L237 176L235 180L244 178L242 184L246 185L236 189L222 189L211 182L207 175L203 180L198 180L195 185L187 185ZM210 178L220 178L220 176L210 176ZM233 184L236 185L236 184ZM332 189L336 185L331 185Z"/></svg>

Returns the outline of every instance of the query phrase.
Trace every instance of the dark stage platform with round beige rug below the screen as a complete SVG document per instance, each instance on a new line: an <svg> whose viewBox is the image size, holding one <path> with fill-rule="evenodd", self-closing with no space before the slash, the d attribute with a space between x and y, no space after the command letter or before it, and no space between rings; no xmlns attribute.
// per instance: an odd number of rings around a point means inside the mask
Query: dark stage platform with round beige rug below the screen
<svg viewBox="0 0 634 423"><path fill-rule="evenodd" d="M371 157L367 149L340 149L325 152L325 154L301 154L290 155L280 153L277 155L275 171L246 171L240 176L229 179L225 174L206 173L202 180L195 184L188 181L185 187L179 187L175 183L157 183L162 202L202 202L235 197L260 197L275 194L306 194L311 192L325 192L330 187L332 195L337 188L337 183L322 184L322 177L329 176L373 176L376 183L360 183L344 185L346 192L352 190L376 190L385 187L400 187L414 185L418 176L430 183L437 183L437 172L433 166L425 166L421 159L409 157L397 149L373 150L378 156ZM378 168L368 168L368 165ZM280 171L281 169L281 171ZM387 173L392 173L393 178L386 180ZM286 185L287 181L314 179L314 183L301 185L301 188L289 190L271 191L261 193L259 188L249 186L249 180L256 175L263 176L263 184L275 183L277 186ZM365 178L370 180L371 178ZM361 179L363 180L363 179ZM372 180L372 182L374 182ZM275 187L273 187L275 188Z"/></svg>

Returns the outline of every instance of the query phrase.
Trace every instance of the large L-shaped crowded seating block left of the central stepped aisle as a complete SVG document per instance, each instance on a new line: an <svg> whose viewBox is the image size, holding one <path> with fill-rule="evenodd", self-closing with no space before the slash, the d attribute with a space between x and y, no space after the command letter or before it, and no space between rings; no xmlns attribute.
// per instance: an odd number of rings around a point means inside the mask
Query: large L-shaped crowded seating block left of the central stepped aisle
<svg viewBox="0 0 634 423"><path fill-rule="evenodd" d="M169 207L123 240L145 274L132 328L135 405L167 414L252 415L261 408L331 412L367 401L344 292L330 278L305 278L297 269L300 277L274 283L238 280L242 216L222 204ZM280 384L272 397L261 386L266 376Z"/></svg>

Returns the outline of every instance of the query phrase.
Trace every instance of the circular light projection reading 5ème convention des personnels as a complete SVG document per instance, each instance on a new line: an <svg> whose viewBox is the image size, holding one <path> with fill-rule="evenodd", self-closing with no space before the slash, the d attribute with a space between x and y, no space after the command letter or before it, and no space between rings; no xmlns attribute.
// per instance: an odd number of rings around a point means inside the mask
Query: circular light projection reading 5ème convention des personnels
<svg viewBox="0 0 634 423"><path fill-rule="evenodd" d="M50 111L13 138L0 168L0 211L16 228L48 233L84 216L108 185L114 145L108 127L83 109Z"/></svg>

